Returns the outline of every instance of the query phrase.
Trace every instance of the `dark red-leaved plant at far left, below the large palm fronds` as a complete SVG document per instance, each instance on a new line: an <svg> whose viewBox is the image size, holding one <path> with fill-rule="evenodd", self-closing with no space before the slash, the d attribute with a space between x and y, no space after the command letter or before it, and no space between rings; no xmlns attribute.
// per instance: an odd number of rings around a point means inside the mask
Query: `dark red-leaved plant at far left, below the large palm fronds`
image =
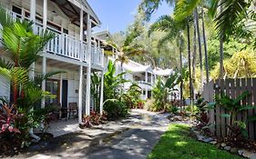
<svg viewBox="0 0 256 159"><path fill-rule="evenodd" d="M18 128L15 128L15 120L18 118L18 114L15 111L15 106L8 106L4 104L0 107L0 134L6 133L21 133Z"/></svg>

